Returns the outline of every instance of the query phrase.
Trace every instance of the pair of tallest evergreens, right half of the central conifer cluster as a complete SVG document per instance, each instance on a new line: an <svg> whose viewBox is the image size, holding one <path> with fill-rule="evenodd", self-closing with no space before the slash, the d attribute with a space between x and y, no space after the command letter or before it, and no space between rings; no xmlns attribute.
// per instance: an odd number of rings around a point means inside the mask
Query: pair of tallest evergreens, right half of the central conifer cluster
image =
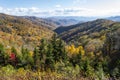
<svg viewBox="0 0 120 80"><path fill-rule="evenodd" d="M53 57L55 62L66 61L67 54L65 50L65 43L57 37L56 34L53 35L51 44L53 46Z"/></svg>

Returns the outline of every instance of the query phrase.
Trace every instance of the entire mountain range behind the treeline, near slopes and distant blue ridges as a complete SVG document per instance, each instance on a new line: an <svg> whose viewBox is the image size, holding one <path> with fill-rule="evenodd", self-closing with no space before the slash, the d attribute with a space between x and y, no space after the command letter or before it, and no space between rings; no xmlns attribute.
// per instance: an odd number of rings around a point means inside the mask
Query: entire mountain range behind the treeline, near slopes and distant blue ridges
<svg viewBox="0 0 120 80"><path fill-rule="evenodd" d="M120 17L104 19L87 17L48 17L11 16L0 14L0 42L6 46L20 47L39 44L43 38L50 39L54 33L66 42L80 42L97 39L110 30L120 28ZM81 40L82 39L82 40Z"/></svg>

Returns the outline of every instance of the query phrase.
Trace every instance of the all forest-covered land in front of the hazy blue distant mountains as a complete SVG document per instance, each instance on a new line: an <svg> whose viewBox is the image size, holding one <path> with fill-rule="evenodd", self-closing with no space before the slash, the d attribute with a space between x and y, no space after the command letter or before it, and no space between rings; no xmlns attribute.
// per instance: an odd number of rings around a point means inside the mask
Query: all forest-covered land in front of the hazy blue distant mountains
<svg viewBox="0 0 120 80"><path fill-rule="evenodd" d="M120 80L119 22L39 24L1 14L0 80Z"/></svg>

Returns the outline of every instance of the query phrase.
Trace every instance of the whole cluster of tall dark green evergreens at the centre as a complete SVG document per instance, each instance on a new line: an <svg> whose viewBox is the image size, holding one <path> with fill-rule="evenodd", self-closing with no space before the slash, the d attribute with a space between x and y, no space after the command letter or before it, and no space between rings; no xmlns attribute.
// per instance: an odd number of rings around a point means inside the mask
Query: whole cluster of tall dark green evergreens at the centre
<svg viewBox="0 0 120 80"><path fill-rule="evenodd" d="M57 62L67 61L65 43L56 34L50 41L43 39L39 46L38 56L41 70L54 70L54 65Z"/></svg>

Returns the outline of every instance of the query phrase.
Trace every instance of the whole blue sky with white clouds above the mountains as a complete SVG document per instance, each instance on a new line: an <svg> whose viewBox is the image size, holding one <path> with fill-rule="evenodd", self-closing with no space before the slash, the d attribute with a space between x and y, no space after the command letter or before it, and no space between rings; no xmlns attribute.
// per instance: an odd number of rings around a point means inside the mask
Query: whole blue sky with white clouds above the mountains
<svg viewBox="0 0 120 80"><path fill-rule="evenodd" d="M17 16L120 15L120 0L0 0L0 13Z"/></svg>

